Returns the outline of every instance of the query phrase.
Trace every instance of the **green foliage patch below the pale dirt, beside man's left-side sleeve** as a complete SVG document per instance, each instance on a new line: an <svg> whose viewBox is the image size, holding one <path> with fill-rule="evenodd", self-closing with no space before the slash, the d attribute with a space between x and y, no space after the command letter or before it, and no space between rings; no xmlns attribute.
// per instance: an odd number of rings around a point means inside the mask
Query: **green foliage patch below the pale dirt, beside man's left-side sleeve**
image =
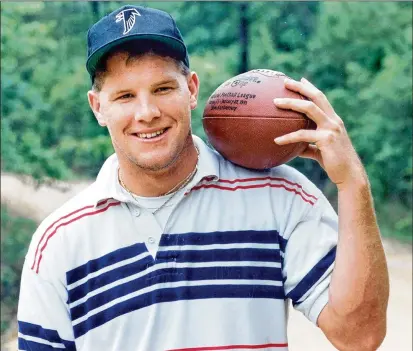
<svg viewBox="0 0 413 351"><path fill-rule="evenodd" d="M36 223L1 207L1 333L17 312L20 276Z"/></svg>

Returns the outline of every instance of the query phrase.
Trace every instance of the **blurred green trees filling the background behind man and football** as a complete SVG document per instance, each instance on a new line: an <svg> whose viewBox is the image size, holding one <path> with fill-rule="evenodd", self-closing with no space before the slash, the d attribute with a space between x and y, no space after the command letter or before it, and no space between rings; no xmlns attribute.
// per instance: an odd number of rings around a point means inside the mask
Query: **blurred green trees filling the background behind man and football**
<svg viewBox="0 0 413 351"><path fill-rule="evenodd" d="M113 153L86 99L86 32L123 4L1 3L2 172L38 181L93 178ZM369 174L383 234L411 241L412 3L141 4L170 12L186 39L191 68L201 79L195 134L205 138L203 106L231 76L254 68L304 76L344 120ZM296 159L291 164L334 201L316 163ZM21 230L10 224L15 222ZM3 228L7 233L31 230L10 213L2 213ZM15 283L10 271L3 274L3 265L19 267L20 246L27 246L19 238L2 231L2 249L14 253L6 259L18 260L2 259L2 295Z"/></svg>

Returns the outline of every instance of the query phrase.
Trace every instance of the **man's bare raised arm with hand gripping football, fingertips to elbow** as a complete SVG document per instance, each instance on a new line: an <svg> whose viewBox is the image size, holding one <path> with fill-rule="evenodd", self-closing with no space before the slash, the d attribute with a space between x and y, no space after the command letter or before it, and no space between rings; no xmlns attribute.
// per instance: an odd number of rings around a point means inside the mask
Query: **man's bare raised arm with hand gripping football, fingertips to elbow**
<svg viewBox="0 0 413 351"><path fill-rule="evenodd" d="M306 114L317 129L299 130L275 142L310 143L300 156L317 160L339 190L339 241L329 300L318 326L340 350L376 350L386 334L389 278L366 172L324 94L304 78L287 79L285 87L309 101L275 99L275 105Z"/></svg>

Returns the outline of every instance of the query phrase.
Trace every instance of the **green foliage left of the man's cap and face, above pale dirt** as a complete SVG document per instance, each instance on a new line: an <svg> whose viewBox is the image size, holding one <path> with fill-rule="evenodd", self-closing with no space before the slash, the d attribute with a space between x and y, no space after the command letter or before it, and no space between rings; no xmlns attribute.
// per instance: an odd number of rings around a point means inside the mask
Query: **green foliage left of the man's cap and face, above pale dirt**
<svg viewBox="0 0 413 351"><path fill-rule="evenodd" d="M84 54L79 55L85 53L85 20L91 15L83 18L83 27L74 25L85 8L88 4L2 4L3 170L38 180L70 178L70 160L57 153L62 137L104 134L88 107L88 76Z"/></svg>

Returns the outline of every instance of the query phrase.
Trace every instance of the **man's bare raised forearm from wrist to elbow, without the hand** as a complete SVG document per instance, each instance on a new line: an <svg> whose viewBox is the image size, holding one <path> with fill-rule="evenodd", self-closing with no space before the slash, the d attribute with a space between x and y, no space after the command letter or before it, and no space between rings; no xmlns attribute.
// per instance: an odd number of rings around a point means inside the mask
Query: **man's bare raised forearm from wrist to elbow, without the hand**
<svg viewBox="0 0 413 351"><path fill-rule="evenodd" d="M386 333L389 277L367 177L339 188L339 240L319 326L339 350L376 350Z"/></svg>

